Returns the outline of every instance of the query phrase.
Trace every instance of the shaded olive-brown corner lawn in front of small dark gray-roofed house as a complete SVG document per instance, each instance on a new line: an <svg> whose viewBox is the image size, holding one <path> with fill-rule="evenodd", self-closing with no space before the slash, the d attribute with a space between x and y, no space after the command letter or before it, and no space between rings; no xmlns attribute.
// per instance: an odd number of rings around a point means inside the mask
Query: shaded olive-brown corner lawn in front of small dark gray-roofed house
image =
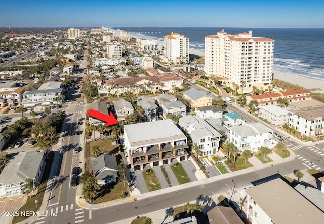
<svg viewBox="0 0 324 224"><path fill-rule="evenodd" d="M118 194L120 194L121 191L127 192L126 196L129 196L126 182L125 187L122 181L117 182L115 185L110 184L109 187L103 186L100 190L98 190L97 195L95 196L94 204L116 200L118 199Z"/></svg>

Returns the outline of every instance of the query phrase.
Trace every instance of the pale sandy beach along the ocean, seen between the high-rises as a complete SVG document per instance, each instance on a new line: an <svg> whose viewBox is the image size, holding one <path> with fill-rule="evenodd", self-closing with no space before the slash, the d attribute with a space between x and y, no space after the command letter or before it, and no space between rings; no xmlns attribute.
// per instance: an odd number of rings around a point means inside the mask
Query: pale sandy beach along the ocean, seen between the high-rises
<svg viewBox="0 0 324 224"><path fill-rule="evenodd" d="M134 38L140 38L136 37L134 35L130 35L131 37ZM160 45L164 45L163 41L156 40L156 42ZM205 51L202 50L197 50L193 48L189 48L189 54L194 54L198 55L200 57L205 57ZM304 87L305 89L321 89L321 90L316 90L315 92L322 92L324 93L324 80L321 79L315 79L311 77L306 77L302 75L297 75L293 73L286 73L286 72L281 72L279 70L273 69L272 70L273 78L274 79L279 79L285 82L289 82L292 84L296 84L299 86Z"/></svg>

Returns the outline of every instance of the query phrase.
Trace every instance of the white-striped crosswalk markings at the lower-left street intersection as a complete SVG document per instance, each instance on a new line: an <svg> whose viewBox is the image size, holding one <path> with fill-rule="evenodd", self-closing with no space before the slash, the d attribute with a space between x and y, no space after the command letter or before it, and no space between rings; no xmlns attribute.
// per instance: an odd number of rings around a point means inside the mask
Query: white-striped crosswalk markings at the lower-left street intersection
<svg viewBox="0 0 324 224"><path fill-rule="evenodd" d="M62 205L58 207L49 208L45 211L45 215L37 218L35 224L43 224L45 223L45 219L49 216L58 216L58 213L71 211L73 210L73 204ZM75 221L74 223L80 223L85 221L85 210L83 208L74 208L75 212ZM55 214L55 215L54 215ZM92 218L91 210L89 211L89 219Z"/></svg>

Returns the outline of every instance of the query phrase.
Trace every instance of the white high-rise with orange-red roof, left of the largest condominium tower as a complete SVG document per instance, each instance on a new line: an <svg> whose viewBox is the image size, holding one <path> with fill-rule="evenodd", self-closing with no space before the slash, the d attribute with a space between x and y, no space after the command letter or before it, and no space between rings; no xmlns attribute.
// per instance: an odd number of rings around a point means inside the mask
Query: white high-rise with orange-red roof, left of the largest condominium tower
<svg viewBox="0 0 324 224"><path fill-rule="evenodd" d="M189 60L189 38L172 32L164 38L164 55L174 63Z"/></svg>

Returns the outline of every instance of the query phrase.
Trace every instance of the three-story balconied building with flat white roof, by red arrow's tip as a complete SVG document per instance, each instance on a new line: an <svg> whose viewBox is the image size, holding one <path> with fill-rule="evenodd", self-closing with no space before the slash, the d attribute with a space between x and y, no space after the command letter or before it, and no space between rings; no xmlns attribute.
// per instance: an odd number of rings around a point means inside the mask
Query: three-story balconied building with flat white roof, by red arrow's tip
<svg viewBox="0 0 324 224"><path fill-rule="evenodd" d="M187 137L170 120L124 125L125 157L133 170L188 159Z"/></svg>

